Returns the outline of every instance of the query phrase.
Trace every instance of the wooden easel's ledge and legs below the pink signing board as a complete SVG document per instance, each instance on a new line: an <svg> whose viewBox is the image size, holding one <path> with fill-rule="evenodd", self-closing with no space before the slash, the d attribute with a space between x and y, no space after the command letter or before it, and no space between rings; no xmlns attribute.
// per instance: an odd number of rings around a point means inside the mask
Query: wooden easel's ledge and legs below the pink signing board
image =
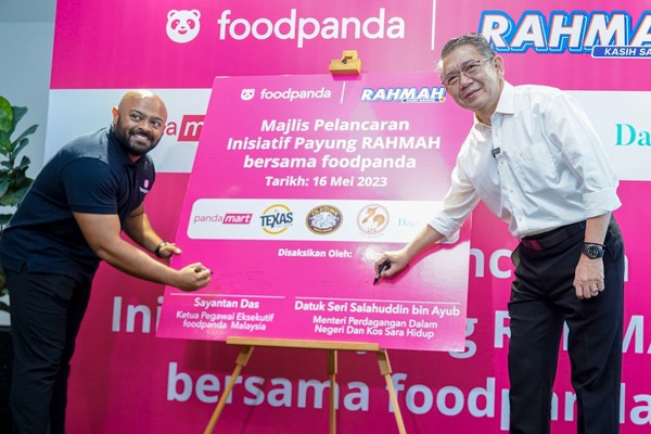
<svg viewBox="0 0 651 434"><path fill-rule="evenodd" d="M388 388L388 396L393 406L394 416L396 418L396 424L400 434L406 434L405 423L403 422L403 416L400 413L400 407L398 406L398 399L396 397L396 391L391 380L391 365L388 362L388 354L386 349L381 349L378 344L369 343L357 343L357 342L326 342L326 341L291 341L291 340L273 340L273 339L248 339L248 337L227 337L227 344L241 345L240 354L235 359L235 369L233 374L228 382L228 385L224 390L224 393L219 397L217 407L213 412L213 417L204 431L204 434L212 434L217 424L217 420L226 406L226 399L230 395L235 381L242 372L242 369L248 362L253 349L256 346L268 346L268 347L282 347L282 348L308 348L308 349L326 349L328 350L328 374L330 375L330 434L336 433L336 396L335 396L335 375L337 371L337 352L372 352L378 355L378 363L380 365L380 373L386 381L386 387Z"/></svg>

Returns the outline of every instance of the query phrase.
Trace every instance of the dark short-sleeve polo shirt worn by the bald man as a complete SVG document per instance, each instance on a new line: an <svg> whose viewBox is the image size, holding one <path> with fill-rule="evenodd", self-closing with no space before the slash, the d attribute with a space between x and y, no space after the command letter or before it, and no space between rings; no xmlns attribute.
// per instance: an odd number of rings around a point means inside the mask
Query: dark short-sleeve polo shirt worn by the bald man
<svg viewBox="0 0 651 434"><path fill-rule="evenodd" d="M144 155L133 163L112 127L73 140L46 164L4 228L2 266L20 271L26 265L33 272L91 279L100 258L73 212L114 214L122 227L154 179L151 158Z"/></svg>

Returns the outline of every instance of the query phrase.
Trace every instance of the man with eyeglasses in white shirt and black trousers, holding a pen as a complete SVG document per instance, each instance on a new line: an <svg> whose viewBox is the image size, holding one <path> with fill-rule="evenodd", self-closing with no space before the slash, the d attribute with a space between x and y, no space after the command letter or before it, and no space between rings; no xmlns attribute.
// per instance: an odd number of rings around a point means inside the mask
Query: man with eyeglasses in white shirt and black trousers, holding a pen
<svg viewBox="0 0 651 434"><path fill-rule="evenodd" d="M590 120L559 89L512 86L503 59L477 34L451 39L438 71L474 113L443 208L401 250L391 277L461 227L483 201L520 240L509 316L510 432L549 433L563 323L577 433L620 432L624 244L612 212L617 177ZM384 267L385 268L385 267Z"/></svg>

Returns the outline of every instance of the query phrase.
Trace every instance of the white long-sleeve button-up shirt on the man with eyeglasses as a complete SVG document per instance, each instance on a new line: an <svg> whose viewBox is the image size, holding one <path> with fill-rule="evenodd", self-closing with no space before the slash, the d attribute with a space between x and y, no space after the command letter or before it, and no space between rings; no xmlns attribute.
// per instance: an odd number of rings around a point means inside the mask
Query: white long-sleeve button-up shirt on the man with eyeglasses
<svg viewBox="0 0 651 434"><path fill-rule="evenodd" d="M522 238L620 207L618 180L584 110L544 86L505 82L492 126L475 124L430 226L450 238L478 201Z"/></svg>

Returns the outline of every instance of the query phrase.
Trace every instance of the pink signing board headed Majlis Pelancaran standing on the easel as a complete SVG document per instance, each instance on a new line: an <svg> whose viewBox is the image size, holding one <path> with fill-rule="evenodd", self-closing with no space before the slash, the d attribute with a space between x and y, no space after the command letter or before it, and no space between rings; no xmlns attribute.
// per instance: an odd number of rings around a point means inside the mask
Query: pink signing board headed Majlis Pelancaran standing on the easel
<svg viewBox="0 0 651 434"><path fill-rule="evenodd" d="M430 220L471 122L435 74L217 78L181 209L158 335L463 348L468 226L373 285L373 263ZM175 261L176 266L177 263Z"/></svg>

